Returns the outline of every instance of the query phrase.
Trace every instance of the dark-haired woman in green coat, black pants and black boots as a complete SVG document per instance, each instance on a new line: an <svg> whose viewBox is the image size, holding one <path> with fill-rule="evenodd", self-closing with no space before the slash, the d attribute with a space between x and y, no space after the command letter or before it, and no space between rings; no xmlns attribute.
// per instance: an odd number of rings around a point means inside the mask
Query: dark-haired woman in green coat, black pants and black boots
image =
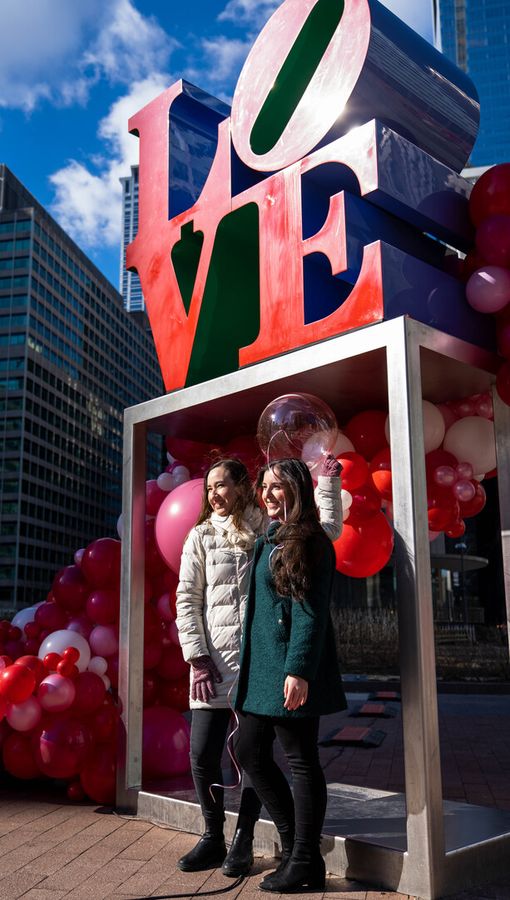
<svg viewBox="0 0 510 900"><path fill-rule="evenodd" d="M324 888L320 837L326 781L319 717L345 708L329 602L335 555L320 527L307 466L279 460L258 487L273 520L255 545L241 649L237 755L282 842L282 860L260 884L285 893ZM273 760L278 738L293 793Z"/></svg>

